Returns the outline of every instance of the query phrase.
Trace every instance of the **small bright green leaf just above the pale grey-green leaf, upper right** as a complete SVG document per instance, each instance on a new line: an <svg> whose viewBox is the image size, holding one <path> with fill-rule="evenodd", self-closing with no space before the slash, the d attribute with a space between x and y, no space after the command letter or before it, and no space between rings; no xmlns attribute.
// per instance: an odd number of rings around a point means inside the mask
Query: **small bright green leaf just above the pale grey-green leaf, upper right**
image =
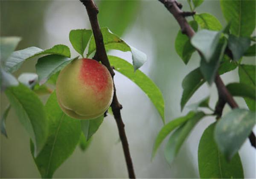
<svg viewBox="0 0 256 179"><path fill-rule="evenodd" d="M220 31L222 25L220 21L212 14L202 13L194 15L195 21L199 24L201 29L208 29L214 31Z"/></svg>

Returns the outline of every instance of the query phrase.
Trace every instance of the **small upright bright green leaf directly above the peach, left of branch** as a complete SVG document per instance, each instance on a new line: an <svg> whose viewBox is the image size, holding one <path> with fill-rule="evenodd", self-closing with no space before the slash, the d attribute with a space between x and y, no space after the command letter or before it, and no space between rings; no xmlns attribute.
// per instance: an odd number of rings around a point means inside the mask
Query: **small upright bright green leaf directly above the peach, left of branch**
<svg viewBox="0 0 256 179"><path fill-rule="evenodd" d="M71 30L69 34L70 42L73 48L78 52L82 57L84 57L84 50L92 36L92 30L86 29L76 29Z"/></svg>

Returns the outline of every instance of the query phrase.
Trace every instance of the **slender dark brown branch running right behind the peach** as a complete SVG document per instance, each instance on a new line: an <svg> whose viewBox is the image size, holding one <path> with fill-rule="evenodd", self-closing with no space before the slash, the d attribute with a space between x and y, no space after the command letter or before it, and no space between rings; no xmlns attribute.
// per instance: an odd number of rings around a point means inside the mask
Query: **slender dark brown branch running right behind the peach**
<svg viewBox="0 0 256 179"><path fill-rule="evenodd" d="M108 56L107 56L104 42L103 42L102 32L99 27L99 22L98 22L98 17L97 17L99 10L98 10L97 6L95 5L95 3L93 2L93 0L80 0L80 1L86 7L87 14L90 19L90 24L91 24L92 30L93 30L93 36L94 36L95 43L96 43L96 53L95 53L93 59L95 59L97 61L101 61L102 64L104 64L108 68L108 70L111 73L111 76L113 78L115 73L108 61ZM129 145L128 145L127 137L125 134L125 125L122 121L122 116L120 113L120 110L122 109L122 105L118 102L118 99L116 96L115 84L113 84L113 86L114 86L114 95L113 95L113 101L111 103L111 107L112 107L113 115L114 115L114 118L116 120L116 124L118 127L119 137L122 141L122 147L123 147L123 151L124 151L124 155L125 155L125 161L126 161L126 165L127 165L127 169L128 169L129 178L135 178L133 164L132 164L131 155L130 155L130 151L129 151Z"/></svg>

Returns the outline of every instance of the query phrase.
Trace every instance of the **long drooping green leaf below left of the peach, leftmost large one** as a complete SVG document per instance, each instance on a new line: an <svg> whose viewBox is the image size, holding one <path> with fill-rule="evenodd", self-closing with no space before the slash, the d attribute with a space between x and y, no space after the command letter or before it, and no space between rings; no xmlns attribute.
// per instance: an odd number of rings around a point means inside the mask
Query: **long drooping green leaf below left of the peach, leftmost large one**
<svg viewBox="0 0 256 179"><path fill-rule="evenodd" d="M44 146L48 132L44 105L38 96L23 84L9 87L5 92L20 123L35 144L35 156L37 156Z"/></svg>

